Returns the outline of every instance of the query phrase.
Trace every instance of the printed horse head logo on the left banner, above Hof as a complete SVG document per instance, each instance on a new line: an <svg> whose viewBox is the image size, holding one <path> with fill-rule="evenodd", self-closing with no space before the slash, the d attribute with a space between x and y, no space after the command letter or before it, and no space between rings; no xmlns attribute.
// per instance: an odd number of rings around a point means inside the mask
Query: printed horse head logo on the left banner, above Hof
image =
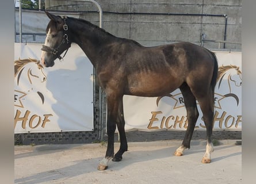
<svg viewBox="0 0 256 184"><path fill-rule="evenodd" d="M35 89L33 82L45 82L47 77L43 71L44 67L37 59L18 59L14 61L14 82L16 87L20 88L22 91L32 91ZM20 82L20 79L23 79ZM25 80L27 78L27 80ZM44 104L44 95L40 92L36 92L41 98Z"/></svg>

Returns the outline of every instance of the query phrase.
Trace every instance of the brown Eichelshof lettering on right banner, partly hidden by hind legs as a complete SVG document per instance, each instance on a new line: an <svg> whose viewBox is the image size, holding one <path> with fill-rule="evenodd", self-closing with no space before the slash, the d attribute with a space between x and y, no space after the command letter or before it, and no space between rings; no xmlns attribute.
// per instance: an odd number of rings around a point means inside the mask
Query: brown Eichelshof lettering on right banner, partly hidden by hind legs
<svg viewBox="0 0 256 184"><path fill-rule="evenodd" d="M152 117L147 126L148 129L182 129L188 128L188 119L186 116L161 116L162 111L151 112ZM161 120L161 121L159 121ZM213 127L215 124L219 124L218 127L220 129L223 128L238 128L239 123L242 123L242 116L227 116L227 112L223 111L220 115L219 112L216 111L215 116L213 118ZM178 127L177 127L178 125ZM204 124L200 123L200 125L195 128L206 128Z"/></svg>

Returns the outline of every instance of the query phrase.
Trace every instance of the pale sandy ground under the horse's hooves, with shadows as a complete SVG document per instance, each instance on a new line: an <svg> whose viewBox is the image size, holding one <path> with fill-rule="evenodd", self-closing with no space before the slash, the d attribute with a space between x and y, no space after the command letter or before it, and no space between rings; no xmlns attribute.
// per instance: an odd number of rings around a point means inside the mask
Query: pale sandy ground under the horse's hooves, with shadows
<svg viewBox="0 0 256 184"><path fill-rule="evenodd" d="M202 164L205 140L173 156L180 140L128 143L121 162L98 171L105 144L16 145L14 182L35 183L242 183L240 140L219 140L212 163ZM115 151L119 143L115 143Z"/></svg>

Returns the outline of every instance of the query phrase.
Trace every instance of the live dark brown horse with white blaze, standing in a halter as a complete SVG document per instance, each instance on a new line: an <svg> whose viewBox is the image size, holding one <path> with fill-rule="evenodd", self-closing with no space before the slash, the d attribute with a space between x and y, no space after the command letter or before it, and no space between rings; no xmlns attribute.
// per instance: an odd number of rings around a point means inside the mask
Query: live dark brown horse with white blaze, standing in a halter
<svg viewBox="0 0 256 184"><path fill-rule="evenodd" d="M198 118L198 101L205 126L207 145L202 163L211 163L214 90L218 64L215 53L199 45L179 42L144 47L131 39L116 37L80 18L57 16L45 11L48 22L41 63L53 67L71 43L76 43L93 64L98 85L106 93L108 145L98 170L106 170L109 160L119 162L128 149L125 136L123 96L159 97L180 89L184 96L188 128L182 144L174 152L181 156L190 148ZM64 56L60 56L64 51ZM114 132L120 135L120 148L114 154Z"/></svg>

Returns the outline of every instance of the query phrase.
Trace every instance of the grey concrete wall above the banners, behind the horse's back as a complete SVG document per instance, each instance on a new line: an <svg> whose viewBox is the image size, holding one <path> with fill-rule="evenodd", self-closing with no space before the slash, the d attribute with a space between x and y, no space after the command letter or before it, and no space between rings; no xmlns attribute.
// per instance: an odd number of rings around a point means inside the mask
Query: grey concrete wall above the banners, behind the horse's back
<svg viewBox="0 0 256 184"><path fill-rule="evenodd" d="M98 0L97 2L104 11L102 28L115 36L133 39L143 45L178 41L190 41L200 45L202 34L205 34L207 40L224 40L225 28L227 41L241 43L241 0ZM98 25L98 13L91 12L97 11L93 3L52 0L46 0L45 3L46 9L82 11L81 18ZM226 14L227 26L224 16L172 14ZM204 43L204 46L216 49L219 44ZM223 44L220 48L223 48ZM239 50L241 45L226 44L226 48Z"/></svg>

